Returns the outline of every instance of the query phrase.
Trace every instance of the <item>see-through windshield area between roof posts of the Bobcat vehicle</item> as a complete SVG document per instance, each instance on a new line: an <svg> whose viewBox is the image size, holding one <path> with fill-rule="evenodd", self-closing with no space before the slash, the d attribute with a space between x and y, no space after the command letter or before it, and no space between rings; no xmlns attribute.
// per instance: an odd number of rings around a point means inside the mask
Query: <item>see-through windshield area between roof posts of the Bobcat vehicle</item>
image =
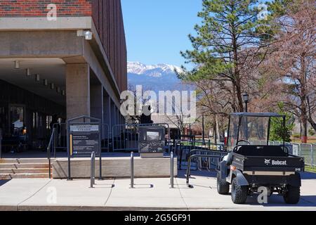
<svg viewBox="0 0 316 225"><path fill-rule="evenodd" d="M266 145L268 143L269 120L270 117L232 115L230 117L228 150L232 150L237 145L237 141L240 145L249 144L249 141Z"/></svg>

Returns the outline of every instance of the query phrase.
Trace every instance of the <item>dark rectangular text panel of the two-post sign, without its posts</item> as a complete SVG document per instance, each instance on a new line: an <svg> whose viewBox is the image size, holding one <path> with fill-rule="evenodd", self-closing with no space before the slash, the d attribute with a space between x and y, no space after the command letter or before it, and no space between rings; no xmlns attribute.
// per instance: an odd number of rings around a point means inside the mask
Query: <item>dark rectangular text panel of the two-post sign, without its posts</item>
<svg viewBox="0 0 316 225"><path fill-rule="evenodd" d="M99 124L70 124L70 156L100 154Z"/></svg>

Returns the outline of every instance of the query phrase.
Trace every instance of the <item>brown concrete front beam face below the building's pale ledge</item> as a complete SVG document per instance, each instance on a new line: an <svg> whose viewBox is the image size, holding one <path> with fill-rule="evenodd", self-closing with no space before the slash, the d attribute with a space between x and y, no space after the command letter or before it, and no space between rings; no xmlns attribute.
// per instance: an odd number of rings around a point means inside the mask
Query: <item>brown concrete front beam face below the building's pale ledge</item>
<svg viewBox="0 0 316 225"><path fill-rule="evenodd" d="M82 56L75 31L1 31L0 58L70 58Z"/></svg>

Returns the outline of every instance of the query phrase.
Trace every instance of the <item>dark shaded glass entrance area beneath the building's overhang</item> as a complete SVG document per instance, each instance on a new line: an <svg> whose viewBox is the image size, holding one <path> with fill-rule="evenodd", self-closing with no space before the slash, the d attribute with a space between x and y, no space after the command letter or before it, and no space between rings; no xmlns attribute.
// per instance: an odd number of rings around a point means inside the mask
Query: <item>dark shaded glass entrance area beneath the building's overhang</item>
<svg viewBox="0 0 316 225"><path fill-rule="evenodd" d="M1 79L0 94L2 155L19 158L16 154L45 151L53 117L65 118L65 108Z"/></svg>

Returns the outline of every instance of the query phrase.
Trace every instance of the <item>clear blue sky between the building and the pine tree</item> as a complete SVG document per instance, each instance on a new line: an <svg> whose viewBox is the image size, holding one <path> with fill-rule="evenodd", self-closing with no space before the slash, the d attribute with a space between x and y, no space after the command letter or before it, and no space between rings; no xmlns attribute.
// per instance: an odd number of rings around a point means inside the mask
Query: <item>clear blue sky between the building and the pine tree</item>
<svg viewBox="0 0 316 225"><path fill-rule="evenodd" d="M182 65L200 0L121 0L129 61Z"/></svg>

